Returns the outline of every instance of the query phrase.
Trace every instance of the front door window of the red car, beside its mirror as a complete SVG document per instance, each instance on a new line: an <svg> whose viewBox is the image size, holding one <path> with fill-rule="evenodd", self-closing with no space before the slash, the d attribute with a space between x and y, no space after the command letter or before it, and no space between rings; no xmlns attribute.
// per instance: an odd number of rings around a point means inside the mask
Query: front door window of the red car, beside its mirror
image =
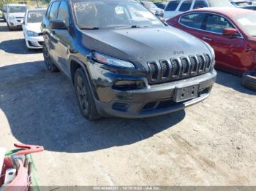
<svg viewBox="0 0 256 191"><path fill-rule="evenodd" d="M224 28L234 28L234 26L225 17L214 14L207 15L206 31L222 34Z"/></svg>

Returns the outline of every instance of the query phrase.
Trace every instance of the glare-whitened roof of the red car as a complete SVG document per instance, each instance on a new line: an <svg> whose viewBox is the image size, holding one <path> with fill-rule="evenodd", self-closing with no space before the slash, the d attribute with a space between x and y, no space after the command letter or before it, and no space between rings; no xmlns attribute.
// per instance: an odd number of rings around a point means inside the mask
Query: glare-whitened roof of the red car
<svg viewBox="0 0 256 191"><path fill-rule="evenodd" d="M249 9L241 9L241 8L230 8L230 7L207 7L201 9L194 9L189 12L214 12L219 13L221 15L227 15L229 17L235 17L236 15L246 14L248 12L255 12Z"/></svg>

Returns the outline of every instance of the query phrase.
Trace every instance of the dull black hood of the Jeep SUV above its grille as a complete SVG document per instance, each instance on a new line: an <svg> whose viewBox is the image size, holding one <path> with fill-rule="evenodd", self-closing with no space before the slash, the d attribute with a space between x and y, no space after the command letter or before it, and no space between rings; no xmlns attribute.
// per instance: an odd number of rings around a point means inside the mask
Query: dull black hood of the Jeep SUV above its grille
<svg viewBox="0 0 256 191"><path fill-rule="evenodd" d="M113 30L83 30L82 43L90 50L144 67L148 61L208 53L200 39L171 26ZM137 66L138 66L137 65Z"/></svg>

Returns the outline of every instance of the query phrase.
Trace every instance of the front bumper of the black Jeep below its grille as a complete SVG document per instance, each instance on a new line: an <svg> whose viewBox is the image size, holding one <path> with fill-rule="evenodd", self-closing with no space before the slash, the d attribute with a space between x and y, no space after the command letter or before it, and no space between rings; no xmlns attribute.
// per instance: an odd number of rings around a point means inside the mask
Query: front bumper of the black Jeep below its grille
<svg viewBox="0 0 256 191"><path fill-rule="evenodd" d="M113 74L112 71L102 69L94 64L90 70L95 104L99 114L104 117L144 118L168 114L192 106L208 98L211 87L217 77L217 71L211 69L206 74L201 74L189 79L167 82L159 85L148 85L146 77L132 77L130 74ZM114 90L113 82L120 79L142 80L146 87L140 90ZM176 103L173 101L176 89L198 85L199 91L196 98Z"/></svg>

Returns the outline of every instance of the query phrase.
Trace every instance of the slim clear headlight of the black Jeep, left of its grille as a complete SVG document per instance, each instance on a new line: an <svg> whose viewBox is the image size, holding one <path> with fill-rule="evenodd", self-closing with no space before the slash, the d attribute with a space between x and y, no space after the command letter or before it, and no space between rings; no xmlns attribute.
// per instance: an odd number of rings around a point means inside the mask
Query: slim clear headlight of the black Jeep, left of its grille
<svg viewBox="0 0 256 191"><path fill-rule="evenodd" d="M135 66L130 62L122 61L117 58L113 58L99 52L94 52L94 56L95 56L94 59L96 59L96 61L98 61L99 63L105 63L110 66L116 66L116 67L122 67L122 68L130 68L130 69L135 68Z"/></svg>

